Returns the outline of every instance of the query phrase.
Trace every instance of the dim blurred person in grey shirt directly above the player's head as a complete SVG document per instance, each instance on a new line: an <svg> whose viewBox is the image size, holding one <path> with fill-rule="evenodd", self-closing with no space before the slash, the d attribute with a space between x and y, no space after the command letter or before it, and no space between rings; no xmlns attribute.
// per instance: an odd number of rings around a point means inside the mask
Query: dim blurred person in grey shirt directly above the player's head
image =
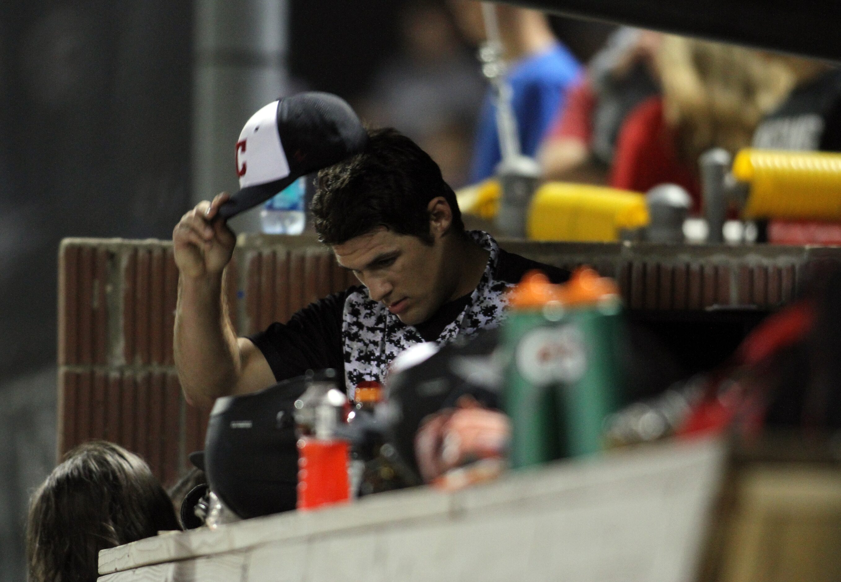
<svg viewBox="0 0 841 582"><path fill-rule="evenodd" d="M443 3L415 0L400 13L401 51L376 73L359 107L428 152L453 188L467 181L473 127L485 82Z"/></svg>

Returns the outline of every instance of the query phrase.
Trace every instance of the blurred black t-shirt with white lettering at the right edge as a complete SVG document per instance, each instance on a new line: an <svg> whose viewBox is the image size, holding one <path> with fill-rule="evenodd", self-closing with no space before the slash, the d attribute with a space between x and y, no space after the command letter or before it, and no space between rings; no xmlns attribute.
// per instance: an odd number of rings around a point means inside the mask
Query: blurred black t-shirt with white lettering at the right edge
<svg viewBox="0 0 841 582"><path fill-rule="evenodd" d="M759 123L753 145L768 150L841 151L841 69L795 87Z"/></svg>

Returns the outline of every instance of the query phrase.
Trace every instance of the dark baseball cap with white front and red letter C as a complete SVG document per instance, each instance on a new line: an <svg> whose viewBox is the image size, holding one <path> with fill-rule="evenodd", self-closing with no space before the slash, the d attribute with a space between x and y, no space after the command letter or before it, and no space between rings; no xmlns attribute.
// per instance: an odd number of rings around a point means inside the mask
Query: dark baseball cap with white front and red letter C
<svg viewBox="0 0 841 582"><path fill-rule="evenodd" d="M299 177L359 153L368 133L347 102L331 93L298 93L251 115L236 142L240 189L222 204L229 219L265 202Z"/></svg>

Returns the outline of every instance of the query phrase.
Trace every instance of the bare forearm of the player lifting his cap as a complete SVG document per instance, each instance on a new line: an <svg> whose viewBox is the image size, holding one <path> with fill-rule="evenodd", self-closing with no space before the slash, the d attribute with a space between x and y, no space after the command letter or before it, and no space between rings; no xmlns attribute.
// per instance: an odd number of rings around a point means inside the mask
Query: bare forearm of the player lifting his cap
<svg viewBox="0 0 841 582"><path fill-rule="evenodd" d="M225 305L223 277L178 280L175 363L184 395L210 405L231 394L240 375L240 352Z"/></svg>

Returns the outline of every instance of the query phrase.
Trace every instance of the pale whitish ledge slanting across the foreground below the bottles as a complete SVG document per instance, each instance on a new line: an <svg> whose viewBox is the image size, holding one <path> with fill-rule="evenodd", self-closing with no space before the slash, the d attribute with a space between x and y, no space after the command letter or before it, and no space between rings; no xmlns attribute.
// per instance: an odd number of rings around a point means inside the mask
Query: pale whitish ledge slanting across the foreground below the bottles
<svg viewBox="0 0 841 582"><path fill-rule="evenodd" d="M659 444L455 493L163 534L103 550L100 580L690 579L724 452L717 441Z"/></svg>

